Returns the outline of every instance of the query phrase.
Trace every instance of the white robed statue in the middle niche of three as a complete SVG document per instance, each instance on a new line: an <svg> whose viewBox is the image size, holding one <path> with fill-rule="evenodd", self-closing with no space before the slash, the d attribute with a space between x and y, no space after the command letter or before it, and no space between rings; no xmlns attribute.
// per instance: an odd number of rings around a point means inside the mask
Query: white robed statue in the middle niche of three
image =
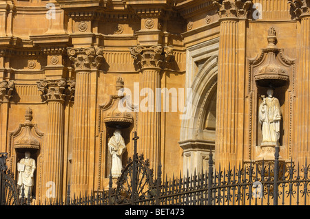
<svg viewBox="0 0 310 219"><path fill-rule="evenodd" d="M121 176L122 171L122 155L125 151L125 141L121 135L121 130L116 129L109 143L107 143L110 153L112 154L112 177Z"/></svg>

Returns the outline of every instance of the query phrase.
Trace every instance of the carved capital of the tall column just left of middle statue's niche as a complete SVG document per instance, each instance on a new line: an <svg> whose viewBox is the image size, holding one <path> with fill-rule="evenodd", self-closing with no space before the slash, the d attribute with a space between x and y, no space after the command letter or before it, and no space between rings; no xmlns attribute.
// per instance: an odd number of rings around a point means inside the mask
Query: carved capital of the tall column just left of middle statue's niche
<svg viewBox="0 0 310 219"><path fill-rule="evenodd" d="M76 71L99 69L103 62L102 47L68 48L68 55Z"/></svg>

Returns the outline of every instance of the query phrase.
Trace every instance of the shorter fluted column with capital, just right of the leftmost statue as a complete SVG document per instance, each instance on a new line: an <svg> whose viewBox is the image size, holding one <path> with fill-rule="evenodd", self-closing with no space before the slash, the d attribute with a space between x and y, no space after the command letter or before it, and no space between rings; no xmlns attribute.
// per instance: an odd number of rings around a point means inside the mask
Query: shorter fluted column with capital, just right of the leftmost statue
<svg viewBox="0 0 310 219"><path fill-rule="evenodd" d="M41 80L42 99L48 104L48 132L43 148L43 187L45 198L63 198L64 104L73 97L74 81Z"/></svg>

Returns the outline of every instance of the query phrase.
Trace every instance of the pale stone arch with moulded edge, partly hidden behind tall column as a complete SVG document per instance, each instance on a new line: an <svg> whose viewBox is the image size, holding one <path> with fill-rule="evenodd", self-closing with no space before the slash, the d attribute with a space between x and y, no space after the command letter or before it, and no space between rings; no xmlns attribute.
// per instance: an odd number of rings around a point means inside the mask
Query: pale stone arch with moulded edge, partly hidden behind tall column
<svg viewBox="0 0 310 219"><path fill-rule="evenodd" d="M207 170L209 152L214 152L216 132L216 89L218 56L207 58L192 84L192 116L183 119L180 147L183 148L183 172Z"/></svg>

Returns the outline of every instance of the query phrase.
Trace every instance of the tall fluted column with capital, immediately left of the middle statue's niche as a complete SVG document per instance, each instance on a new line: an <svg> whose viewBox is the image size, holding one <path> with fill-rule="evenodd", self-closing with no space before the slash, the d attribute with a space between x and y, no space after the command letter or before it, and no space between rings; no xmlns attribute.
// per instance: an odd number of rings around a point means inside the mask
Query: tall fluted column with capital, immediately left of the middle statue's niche
<svg viewBox="0 0 310 219"><path fill-rule="evenodd" d="M72 194L85 192L94 177L94 136L96 110L96 73L103 61L101 47L68 48L68 55L76 73L74 95L72 174L70 184ZM95 74L92 77L92 73ZM94 79L94 80L92 80Z"/></svg>

